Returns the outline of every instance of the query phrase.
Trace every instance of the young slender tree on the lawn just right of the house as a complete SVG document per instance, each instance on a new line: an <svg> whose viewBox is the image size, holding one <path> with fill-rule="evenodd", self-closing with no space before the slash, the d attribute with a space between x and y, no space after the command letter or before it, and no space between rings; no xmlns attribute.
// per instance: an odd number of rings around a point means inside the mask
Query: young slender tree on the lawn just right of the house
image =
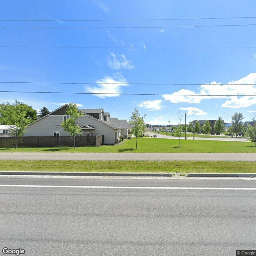
<svg viewBox="0 0 256 256"><path fill-rule="evenodd" d="M144 116L140 116L138 108L135 108L130 117L129 124L132 126L132 134L134 134L136 139L136 149L137 149L137 138L140 137L145 132Z"/></svg>

